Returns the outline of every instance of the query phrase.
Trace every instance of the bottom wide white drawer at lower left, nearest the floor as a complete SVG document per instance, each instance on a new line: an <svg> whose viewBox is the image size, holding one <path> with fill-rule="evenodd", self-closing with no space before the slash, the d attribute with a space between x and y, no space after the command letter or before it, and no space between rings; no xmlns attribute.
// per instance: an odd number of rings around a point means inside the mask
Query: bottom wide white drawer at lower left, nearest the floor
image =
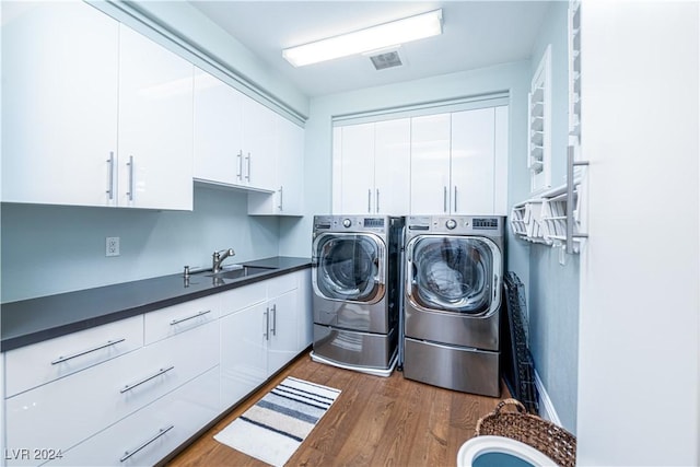
<svg viewBox="0 0 700 467"><path fill-rule="evenodd" d="M154 465L219 415L218 385L215 366L47 465Z"/></svg>

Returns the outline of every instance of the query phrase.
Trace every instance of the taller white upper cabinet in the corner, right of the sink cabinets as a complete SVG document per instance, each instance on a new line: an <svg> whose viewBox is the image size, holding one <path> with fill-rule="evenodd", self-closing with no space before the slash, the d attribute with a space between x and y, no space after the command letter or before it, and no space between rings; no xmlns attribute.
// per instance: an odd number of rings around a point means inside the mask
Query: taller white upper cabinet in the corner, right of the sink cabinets
<svg viewBox="0 0 700 467"><path fill-rule="evenodd" d="M248 192L248 214L302 215L304 198L304 129L275 115L275 160L266 167L277 173L275 191Z"/></svg>

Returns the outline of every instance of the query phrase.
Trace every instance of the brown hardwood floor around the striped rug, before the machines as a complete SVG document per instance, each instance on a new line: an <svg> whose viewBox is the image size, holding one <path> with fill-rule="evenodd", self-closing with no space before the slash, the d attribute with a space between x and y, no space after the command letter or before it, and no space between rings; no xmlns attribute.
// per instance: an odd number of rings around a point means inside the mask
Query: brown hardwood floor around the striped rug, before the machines
<svg viewBox="0 0 700 467"><path fill-rule="evenodd" d="M287 376L342 390L288 466L454 466L477 420L501 400L405 380L400 372L380 377L340 370L306 352L167 465L265 466L213 435ZM504 385L501 397L509 397Z"/></svg>

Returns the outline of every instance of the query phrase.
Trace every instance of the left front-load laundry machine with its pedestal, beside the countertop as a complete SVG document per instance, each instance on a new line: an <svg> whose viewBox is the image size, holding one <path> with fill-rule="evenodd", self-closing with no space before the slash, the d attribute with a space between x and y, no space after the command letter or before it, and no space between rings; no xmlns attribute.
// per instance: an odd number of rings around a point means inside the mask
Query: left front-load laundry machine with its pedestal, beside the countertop
<svg viewBox="0 0 700 467"><path fill-rule="evenodd" d="M388 376L397 360L404 218L314 217L312 359Z"/></svg>

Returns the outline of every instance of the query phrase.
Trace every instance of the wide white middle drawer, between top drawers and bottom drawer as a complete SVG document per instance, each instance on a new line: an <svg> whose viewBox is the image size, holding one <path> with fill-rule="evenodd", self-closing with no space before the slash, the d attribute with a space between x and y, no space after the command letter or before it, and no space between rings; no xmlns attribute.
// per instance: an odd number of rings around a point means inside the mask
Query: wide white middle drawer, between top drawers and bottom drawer
<svg viewBox="0 0 700 467"><path fill-rule="evenodd" d="M7 447L66 451L218 363L210 323L22 393L5 400Z"/></svg>

